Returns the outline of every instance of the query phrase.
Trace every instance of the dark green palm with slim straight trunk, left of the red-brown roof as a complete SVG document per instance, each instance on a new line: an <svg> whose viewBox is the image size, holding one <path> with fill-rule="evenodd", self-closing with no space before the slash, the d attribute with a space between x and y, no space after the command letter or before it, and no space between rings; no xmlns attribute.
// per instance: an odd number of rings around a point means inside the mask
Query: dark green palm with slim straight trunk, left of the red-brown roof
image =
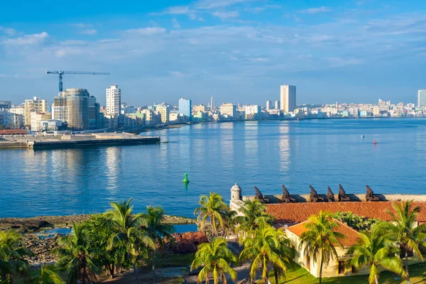
<svg viewBox="0 0 426 284"><path fill-rule="evenodd" d="M164 237L171 239L171 234L175 231L175 228L170 224L164 224L165 212L161 207L146 207L146 220L148 221L146 227L146 234L159 244L161 248L164 248ZM153 281L155 283L155 246L152 249L153 258Z"/></svg>

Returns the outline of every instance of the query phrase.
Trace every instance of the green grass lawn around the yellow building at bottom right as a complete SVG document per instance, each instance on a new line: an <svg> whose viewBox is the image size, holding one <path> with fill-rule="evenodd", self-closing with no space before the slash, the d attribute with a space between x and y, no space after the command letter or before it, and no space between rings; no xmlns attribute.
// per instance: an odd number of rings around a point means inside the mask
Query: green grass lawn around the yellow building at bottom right
<svg viewBox="0 0 426 284"><path fill-rule="evenodd" d="M289 284L314 284L318 283L318 279L312 276L309 272L301 266L296 266L292 270L288 271L287 278L280 280L279 283ZM407 283L405 280L395 280L400 278L394 273L384 271L381 273L380 279L378 280L381 284L400 284ZM269 274L269 280L272 284L275 284L275 278L273 272ZM410 280L412 284L426 283L426 263L418 263L410 266ZM259 281L260 282L260 281ZM261 282L263 283L263 281ZM342 284L365 284L368 283L368 275L351 276L351 277L333 277L333 278L322 278L322 283L342 283Z"/></svg>

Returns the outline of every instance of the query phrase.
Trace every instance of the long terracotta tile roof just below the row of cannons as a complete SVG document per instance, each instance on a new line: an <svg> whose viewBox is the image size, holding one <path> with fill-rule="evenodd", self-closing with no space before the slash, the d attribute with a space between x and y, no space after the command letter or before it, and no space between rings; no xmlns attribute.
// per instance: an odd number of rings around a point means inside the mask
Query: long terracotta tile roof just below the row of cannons
<svg viewBox="0 0 426 284"><path fill-rule="evenodd" d="M305 202L267 204L268 214L277 218L278 222L305 222L311 215L324 212L352 212L358 216L391 221L388 210L393 211L394 202ZM413 202L420 207L418 222L426 222L426 202Z"/></svg>

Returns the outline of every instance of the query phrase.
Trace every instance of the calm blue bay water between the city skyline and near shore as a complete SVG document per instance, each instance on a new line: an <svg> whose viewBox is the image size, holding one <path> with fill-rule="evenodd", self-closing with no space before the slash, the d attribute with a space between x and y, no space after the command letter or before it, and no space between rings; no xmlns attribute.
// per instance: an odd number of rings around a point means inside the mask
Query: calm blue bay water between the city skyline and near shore
<svg viewBox="0 0 426 284"><path fill-rule="evenodd" d="M366 137L361 139L361 134ZM0 151L0 217L104 212L133 197L190 217L200 195L238 182L263 194L426 193L426 119L329 119L185 126L147 146ZM378 144L373 146L373 139ZM182 178L188 172L185 189Z"/></svg>

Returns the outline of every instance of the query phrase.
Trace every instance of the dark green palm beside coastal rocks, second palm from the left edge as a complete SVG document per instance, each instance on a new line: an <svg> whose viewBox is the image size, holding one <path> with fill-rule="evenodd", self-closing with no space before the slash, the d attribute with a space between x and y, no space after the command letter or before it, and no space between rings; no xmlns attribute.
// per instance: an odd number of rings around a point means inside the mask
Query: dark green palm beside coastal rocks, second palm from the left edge
<svg viewBox="0 0 426 284"><path fill-rule="evenodd" d="M94 277L98 273L99 269L92 258L101 252L97 248L90 248L88 244L88 231L83 224L75 222L72 223L71 234L58 239L59 247L53 249L53 252L60 256L56 265L67 272L68 283L77 283L78 280L83 284L91 283L90 276Z"/></svg>

